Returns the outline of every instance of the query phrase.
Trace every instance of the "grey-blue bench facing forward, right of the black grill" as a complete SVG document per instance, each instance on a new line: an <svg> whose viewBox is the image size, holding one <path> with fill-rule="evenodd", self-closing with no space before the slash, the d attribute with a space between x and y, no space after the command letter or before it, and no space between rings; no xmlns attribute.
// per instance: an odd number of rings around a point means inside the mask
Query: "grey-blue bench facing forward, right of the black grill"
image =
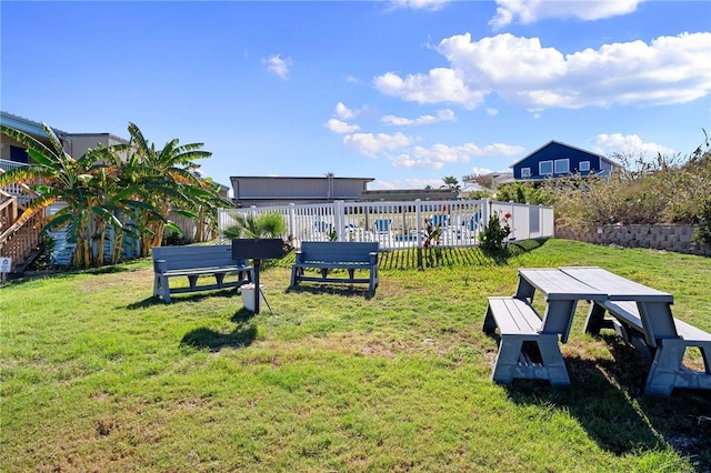
<svg viewBox="0 0 711 473"><path fill-rule="evenodd" d="M291 268L291 286L300 281L330 283L368 283L374 292L379 283L375 242L304 241L296 252ZM320 270L321 275L307 275L304 269ZM329 276L329 270L346 270L348 276ZM368 278L356 278L356 270L367 270ZM332 274L332 273L331 273Z"/></svg>

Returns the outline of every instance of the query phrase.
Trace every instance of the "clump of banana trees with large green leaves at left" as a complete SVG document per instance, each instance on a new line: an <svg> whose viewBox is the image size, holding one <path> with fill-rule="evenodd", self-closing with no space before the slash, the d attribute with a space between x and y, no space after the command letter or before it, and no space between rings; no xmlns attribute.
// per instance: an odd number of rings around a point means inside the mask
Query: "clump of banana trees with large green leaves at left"
<svg viewBox="0 0 711 473"><path fill-rule="evenodd" d="M42 129L51 148L2 125L2 133L27 147L32 163L1 174L0 185L24 183L38 192L29 209L66 203L42 232L67 228L69 241L76 243L77 266L119 262L126 236L139 240L140 254L148 255L151 246L162 243L167 227L177 229L169 220L171 212L214 222L217 228L217 208L231 207L220 198L219 185L197 173L194 160L210 157L200 150L201 143L179 145L176 139L157 151L129 123L128 144L99 145L72 158L50 127L42 123ZM109 254L104 253L107 242L112 243Z"/></svg>

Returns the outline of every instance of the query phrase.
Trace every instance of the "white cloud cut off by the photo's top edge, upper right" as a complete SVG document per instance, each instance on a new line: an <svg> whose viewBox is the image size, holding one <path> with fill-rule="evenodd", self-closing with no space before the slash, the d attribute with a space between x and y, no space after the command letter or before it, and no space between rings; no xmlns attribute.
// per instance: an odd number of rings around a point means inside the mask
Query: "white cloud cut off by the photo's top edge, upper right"
<svg viewBox="0 0 711 473"><path fill-rule="evenodd" d="M601 20L632 13L642 1L644 0L497 0L497 16L489 21L489 26L497 30L514 21L530 24L547 18Z"/></svg>

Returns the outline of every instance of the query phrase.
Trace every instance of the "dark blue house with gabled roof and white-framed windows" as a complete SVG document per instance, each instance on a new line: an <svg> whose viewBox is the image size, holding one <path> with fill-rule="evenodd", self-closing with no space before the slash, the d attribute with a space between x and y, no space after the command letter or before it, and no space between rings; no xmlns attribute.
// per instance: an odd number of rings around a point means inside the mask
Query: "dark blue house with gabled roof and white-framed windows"
<svg viewBox="0 0 711 473"><path fill-rule="evenodd" d="M550 141L511 164L513 180L542 181L571 175L610 175L620 164L601 154L559 141Z"/></svg>

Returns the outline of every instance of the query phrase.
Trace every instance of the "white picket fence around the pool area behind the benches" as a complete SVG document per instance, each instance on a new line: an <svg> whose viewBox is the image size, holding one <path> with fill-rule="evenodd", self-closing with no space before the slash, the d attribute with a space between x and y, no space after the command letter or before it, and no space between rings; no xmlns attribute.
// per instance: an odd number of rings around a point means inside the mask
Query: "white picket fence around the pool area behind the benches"
<svg viewBox="0 0 711 473"><path fill-rule="evenodd" d="M381 250L422 248L428 240L428 222L440 225L438 246L473 246L489 218L497 213L512 232L510 240L553 236L553 208L491 200L343 202L288 204L221 209L218 227L222 244L229 244L223 231L237 215L259 217L280 213L294 246L302 241L378 241Z"/></svg>

